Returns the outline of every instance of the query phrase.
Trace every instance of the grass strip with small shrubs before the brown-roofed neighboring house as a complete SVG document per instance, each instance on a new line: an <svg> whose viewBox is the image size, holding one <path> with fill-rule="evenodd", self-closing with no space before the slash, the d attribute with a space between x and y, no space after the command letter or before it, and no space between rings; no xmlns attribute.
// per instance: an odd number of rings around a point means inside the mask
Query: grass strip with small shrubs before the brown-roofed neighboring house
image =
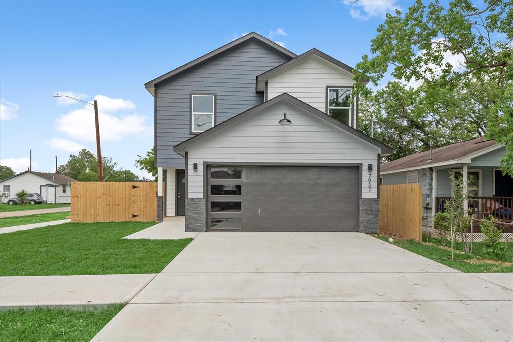
<svg viewBox="0 0 513 342"><path fill-rule="evenodd" d="M386 236L378 236L378 238L388 242ZM473 244L472 254L456 252L462 250L461 243L456 243L454 260L451 260L450 246L448 249L443 248L440 239L431 237L427 243L426 236L423 236L423 243L415 240L395 240L393 244L466 273L513 272L513 244L511 243L506 244L506 252L497 260L485 255L482 243Z"/></svg>

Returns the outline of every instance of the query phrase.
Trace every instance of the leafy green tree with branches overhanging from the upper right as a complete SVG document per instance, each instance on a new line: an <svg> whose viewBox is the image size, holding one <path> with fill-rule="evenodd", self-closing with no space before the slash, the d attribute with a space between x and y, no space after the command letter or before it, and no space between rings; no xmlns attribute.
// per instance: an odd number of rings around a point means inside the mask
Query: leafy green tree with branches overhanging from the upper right
<svg viewBox="0 0 513 342"><path fill-rule="evenodd" d="M413 112L450 107L452 113L465 114L486 108L486 121L478 118L478 126L488 125L483 126L486 135L506 144L503 171L513 175L512 8L507 0L485 0L482 9L469 0L445 6L438 0L427 5L417 0L404 15L399 10L387 14L371 41L372 55L363 55L354 69L354 94L372 95L362 81L378 85L390 72L404 83L420 84L423 100L413 105ZM472 95L486 103L466 102ZM479 133L478 128L475 135Z"/></svg>

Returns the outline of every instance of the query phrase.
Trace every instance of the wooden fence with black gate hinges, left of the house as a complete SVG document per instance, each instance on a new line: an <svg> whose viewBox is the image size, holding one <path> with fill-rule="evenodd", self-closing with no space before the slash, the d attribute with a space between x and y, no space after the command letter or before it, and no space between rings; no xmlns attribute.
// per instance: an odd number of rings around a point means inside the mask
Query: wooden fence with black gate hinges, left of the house
<svg viewBox="0 0 513 342"><path fill-rule="evenodd" d="M71 222L156 221L155 182L72 182Z"/></svg>

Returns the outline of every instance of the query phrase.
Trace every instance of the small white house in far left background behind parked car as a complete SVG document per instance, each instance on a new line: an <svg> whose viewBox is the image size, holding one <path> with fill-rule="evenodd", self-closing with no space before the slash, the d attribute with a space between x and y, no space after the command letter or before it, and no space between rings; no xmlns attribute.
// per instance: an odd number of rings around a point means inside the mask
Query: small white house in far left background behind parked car
<svg viewBox="0 0 513 342"><path fill-rule="evenodd" d="M36 192L43 197L46 203L70 203L70 183L75 179L57 173L24 171L12 177L0 180L2 187L2 203L16 192L27 190Z"/></svg>

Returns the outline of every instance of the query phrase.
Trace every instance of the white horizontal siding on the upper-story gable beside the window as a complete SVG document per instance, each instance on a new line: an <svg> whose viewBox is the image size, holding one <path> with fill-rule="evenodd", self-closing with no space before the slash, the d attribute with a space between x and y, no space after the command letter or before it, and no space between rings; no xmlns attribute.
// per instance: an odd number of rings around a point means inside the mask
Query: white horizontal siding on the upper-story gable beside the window
<svg viewBox="0 0 513 342"><path fill-rule="evenodd" d="M325 112L326 86L352 85L352 75L349 72L331 67L328 62L312 56L297 66L271 76L267 81L267 99L289 93ZM356 110L353 110L353 123L356 123Z"/></svg>

